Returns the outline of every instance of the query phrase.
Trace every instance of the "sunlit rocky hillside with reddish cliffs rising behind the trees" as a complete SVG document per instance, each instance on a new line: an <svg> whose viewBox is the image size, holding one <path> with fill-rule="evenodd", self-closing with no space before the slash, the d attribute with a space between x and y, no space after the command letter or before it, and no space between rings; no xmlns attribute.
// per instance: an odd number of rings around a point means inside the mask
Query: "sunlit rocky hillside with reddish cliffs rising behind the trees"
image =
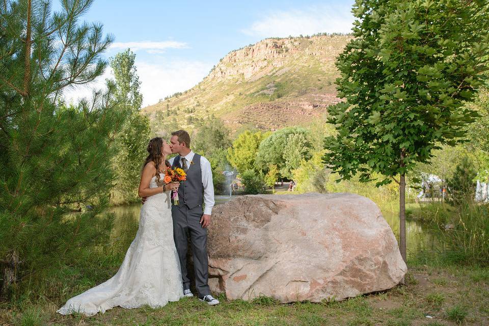
<svg viewBox="0 0 489 326"><path fill-rule="evenodd" d="M231 130L303 125L338 102L336 56L351 36L265 39L228 53L202 82L143 108L155 130L215 115ZM178 115L177 115L178 112Z"/></svg>

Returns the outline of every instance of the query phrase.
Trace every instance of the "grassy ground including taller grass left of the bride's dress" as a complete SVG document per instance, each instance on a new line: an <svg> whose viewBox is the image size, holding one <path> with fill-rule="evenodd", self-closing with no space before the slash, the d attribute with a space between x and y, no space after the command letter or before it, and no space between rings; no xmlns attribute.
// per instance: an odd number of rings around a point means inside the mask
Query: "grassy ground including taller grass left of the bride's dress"
<svg viewBox="0 0 489 326"><path fill-rule="evenodd" d="M39 279L23 284L10 302L0 303L0 325L466 325L489 324L489 268L453 264L420 252L408 261L405 284L391 290L338 302L281 304L268 296L229 301L209 307L183 298L159 309L114 308L93 317L61 316L66 300L112 277L129 246L134 225L118 230L111 245L86 253L83 264L52 266ZM132 233L131 233L132 232ZM434 320L425 316L431 315Z"/></svg>

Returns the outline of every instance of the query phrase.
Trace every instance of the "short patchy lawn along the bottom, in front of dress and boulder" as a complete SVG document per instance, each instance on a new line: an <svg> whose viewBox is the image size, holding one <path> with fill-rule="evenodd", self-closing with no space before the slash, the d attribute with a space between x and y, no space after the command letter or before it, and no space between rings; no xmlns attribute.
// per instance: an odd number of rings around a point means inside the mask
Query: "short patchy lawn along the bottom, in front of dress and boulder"
<svg viewBox="0 0 489 326"><path fill-rule="evenodd" d="M489 268L410 263L406 284L343 302L279 304L261 297L209 307L183 298L159 309L114 308L93 317L61 316L56 302L24 302L0 312L2 325L489 325ZM72 293L76 294L76 293ZM2 307L2 306L0 306ZM427 316L431 316L429 318Z"/></svg>

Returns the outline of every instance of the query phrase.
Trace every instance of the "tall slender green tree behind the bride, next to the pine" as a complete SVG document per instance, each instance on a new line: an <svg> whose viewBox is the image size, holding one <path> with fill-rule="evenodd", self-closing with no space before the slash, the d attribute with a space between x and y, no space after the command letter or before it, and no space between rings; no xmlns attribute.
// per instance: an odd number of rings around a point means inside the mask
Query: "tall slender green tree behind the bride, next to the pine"
<svg viewBox="0 0 489 326"><path fill-rule="evenodd" d="M140 114L143 95L140 93L138 72L134 66L136 55L127 49L111 59L114 71L115 102L130 112L122 131L117 137L119 153L113 160L116 173L115 187L111 192L112 204L138 201L138 185L146 146L150 138L149 119Z"/></svg>

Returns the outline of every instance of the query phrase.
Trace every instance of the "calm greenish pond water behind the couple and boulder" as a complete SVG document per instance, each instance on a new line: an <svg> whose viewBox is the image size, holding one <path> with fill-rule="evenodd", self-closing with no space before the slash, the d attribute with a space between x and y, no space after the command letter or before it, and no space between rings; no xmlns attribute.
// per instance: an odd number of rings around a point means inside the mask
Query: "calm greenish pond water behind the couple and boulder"
<svg viewBox="0 0 489 326"><path fill-rule="evenodd" d="M219 205L236 197L238 196L215 196L215 204ZM111 210L116 215L114 234L131 240L137 231L140 209L141 204L113 207ZM394 209L383 209L382 214L391 226L397 241L399 241L399 212L394 211ZM408 257L425 250L430 252L437 251L437 247L440 246L440 241L438 241L436 234L431 232L426 225L419 222L406 221L406 234Z"/></svg>

